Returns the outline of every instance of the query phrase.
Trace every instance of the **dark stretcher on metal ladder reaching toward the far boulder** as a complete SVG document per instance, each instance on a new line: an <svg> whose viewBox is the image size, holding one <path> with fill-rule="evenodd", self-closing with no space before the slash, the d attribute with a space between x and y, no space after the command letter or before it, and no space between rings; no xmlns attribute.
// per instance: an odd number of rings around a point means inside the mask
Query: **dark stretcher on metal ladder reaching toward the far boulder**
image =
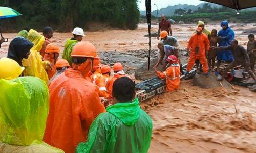
<svg viewBox="0 0 256 153"><path fill-rule="evenodd" d="M187 71L187 64L182 66L182 70L184 72ZM180 78L182 80L190 79L194 77L195 74L196 74L196 68L193 67L188 74L186 75L182 74ZM165 88L166 88L166 80L165 79L161 80L158 77L154 77L135 85L135 90L136 90L135 97L138 98L139 101L145 101L154 97L155 95L164 93Z"/></svg>

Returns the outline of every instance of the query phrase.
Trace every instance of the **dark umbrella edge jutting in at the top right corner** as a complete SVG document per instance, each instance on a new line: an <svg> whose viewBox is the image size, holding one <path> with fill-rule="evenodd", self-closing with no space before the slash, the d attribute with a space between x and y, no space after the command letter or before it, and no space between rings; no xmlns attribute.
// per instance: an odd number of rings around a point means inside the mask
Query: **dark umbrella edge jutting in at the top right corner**
<svg viewBox="0 0 256 153"><path fill-rule="evenodd" d="M204 1L204 0L201 0ZM219 5L223 5L232 9L236 9L238 12L239 10L256 7L255 0L209 0L206 2L211 2Z"/></svg>

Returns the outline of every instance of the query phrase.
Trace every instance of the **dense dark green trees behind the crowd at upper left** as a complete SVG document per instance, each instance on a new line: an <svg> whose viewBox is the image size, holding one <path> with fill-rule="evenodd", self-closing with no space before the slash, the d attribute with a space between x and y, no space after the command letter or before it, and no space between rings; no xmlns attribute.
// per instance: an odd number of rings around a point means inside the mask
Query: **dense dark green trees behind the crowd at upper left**
<svg viewBox="0 0 256 153"><path fill-rule="evenodd" d="M8 31L41 30L50 25L66 32L74 27L90 26L92 21L133 30L139 22L137 0L1 0L0 6L11 7L23 14L1 20L1 28Z"/></svg>

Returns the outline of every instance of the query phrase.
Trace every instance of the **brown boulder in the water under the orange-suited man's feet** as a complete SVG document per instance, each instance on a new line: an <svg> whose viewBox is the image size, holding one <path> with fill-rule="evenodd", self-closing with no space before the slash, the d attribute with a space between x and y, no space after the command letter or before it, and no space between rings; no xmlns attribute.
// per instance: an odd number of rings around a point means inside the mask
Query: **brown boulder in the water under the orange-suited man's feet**
<svg viewBox="0 0 256 153"><path fill-rule="evenodd" d="M203 73L196 74L193 79L193 85L201 88L209 89L216 87L231 87L229 82L225 79L223 81L217 81L213 72L209 73L209 77L206 77Z"/></svg>

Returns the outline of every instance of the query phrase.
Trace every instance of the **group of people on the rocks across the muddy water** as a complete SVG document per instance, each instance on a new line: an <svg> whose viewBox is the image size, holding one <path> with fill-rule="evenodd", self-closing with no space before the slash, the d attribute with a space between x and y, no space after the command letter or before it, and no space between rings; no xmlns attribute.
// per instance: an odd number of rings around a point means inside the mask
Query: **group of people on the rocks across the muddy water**
<svg viewBox="0 0 256 153"><path fill-rule="evenodd" d="M198 21L198 27L196 28L193 35L191 35L188 44L187 52L189 55L187 63L187 71L184 72L188 74L191 68L196 63L197 72L204 72L206 77L209 77L209 71L215 72L215 75L219 75L219 69L221 62L229 62L229 66L226 67L225 71L222 73L222 77L218 80L223 80L228 70L234 75L233 68L241 65L248 72L248 74L255 79L254 65L256 59L256 41L253 34L248 35L248 45L247 51L241 45L238 45L238 41L235 38L233 30L229 27L228 21L221 22L222 29L217 33L216 29L211 32L205 28L205 24L202 21ZM172 36L172 30L170 22L162 15L162 20L159 23L159 36L161 37L161 42L158 43L158 56L159 64L164 64L162 61L167 62L167 57L174 55L179 60L179 43L178 40ZM170 35L170 36L169 36ZM218 47L219 46L219 47ZM217 67L215 69L215 59L217 59ZM180 68L181 63L179 60ZM183 73L182 69L181 73Z"/></svg>

